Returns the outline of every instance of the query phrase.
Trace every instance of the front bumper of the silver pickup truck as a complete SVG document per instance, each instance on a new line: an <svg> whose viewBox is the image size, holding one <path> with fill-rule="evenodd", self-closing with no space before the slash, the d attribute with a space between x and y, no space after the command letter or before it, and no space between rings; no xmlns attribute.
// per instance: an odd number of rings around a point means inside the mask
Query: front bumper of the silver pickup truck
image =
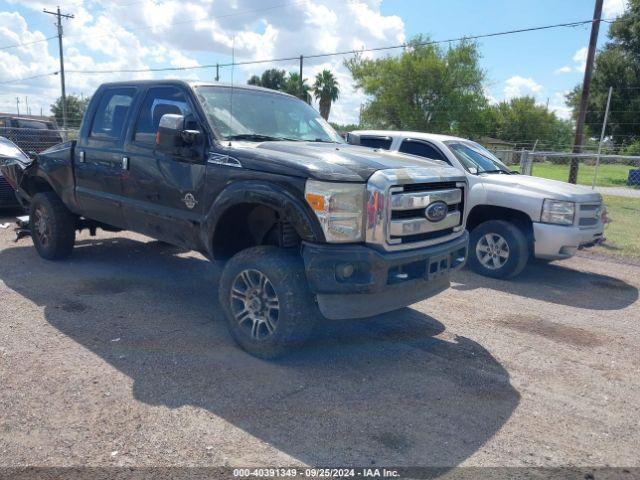
<svg viewBox="0 0 640 480"><path fill-rule="evenodd" d="M596 228L580 228L534 222L535 256L546 260L572 257L579 248L602 242L603 232L604 226L601 224Z"/></svg>

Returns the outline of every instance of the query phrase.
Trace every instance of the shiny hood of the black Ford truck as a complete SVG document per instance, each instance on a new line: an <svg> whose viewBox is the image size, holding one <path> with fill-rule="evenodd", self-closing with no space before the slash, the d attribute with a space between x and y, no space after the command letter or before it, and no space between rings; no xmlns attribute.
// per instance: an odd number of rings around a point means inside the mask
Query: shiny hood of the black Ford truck
<svg viewBox="0 0 640 480"><path fill-rule="evenodd" d="M443 162L342 143L232 142L228 153L246 168L327 181L366 182L378 170L415 166L460 176Z"/></svg>

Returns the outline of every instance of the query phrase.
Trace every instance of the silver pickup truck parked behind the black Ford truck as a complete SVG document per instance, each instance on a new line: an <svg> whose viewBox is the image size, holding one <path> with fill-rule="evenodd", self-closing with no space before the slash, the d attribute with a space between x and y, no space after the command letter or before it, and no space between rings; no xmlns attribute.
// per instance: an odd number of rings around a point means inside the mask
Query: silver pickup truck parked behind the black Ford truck
<svg viewBox="0 0 640 480"><path fill-rule="evenodd" d="M483 146L421 132L357 130L349 143L441 160L469 181L469 265L494 278L519 274L531 258L569 258L604 240L602 196L585 187L512 172Z"/></svg>

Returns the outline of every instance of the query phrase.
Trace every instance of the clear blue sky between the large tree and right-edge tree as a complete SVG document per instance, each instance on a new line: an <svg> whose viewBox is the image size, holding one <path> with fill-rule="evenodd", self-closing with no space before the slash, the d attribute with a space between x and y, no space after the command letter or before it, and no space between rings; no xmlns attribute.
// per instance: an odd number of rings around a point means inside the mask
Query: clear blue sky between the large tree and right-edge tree
<svg viewBox="0 0 640 480"><path fill-rule="evenodd" d="M611 2L606 14L619 12ZM507 31L538 25L588 20L593 16L590 0L389 0L382 3L384 14L402 17L408 37L427 32L433 39L456 38L467 34ZM602 23L599 45L606 41L609 24ZM541 86L539 101L549 98L557 106L557 94L572 89L582 80L581 62L573 57L586 48L590 25L521 33L479 40L482 65L487 71L488 90L502 99L509 78L532 79ZM565 72L559 71L563 67Z"/></svg>

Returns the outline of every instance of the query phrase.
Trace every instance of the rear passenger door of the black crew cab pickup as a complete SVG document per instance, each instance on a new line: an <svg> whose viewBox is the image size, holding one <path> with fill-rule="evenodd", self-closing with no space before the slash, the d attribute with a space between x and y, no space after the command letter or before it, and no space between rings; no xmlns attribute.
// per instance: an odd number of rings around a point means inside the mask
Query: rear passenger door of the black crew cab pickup
<svg viewBox="0 0 640 480"><path fill-rule="evenodd" d="M124 228L122 214L123 140L135 87L102 90L86 131L75 149L76 199L83 216Z"/></svg>

